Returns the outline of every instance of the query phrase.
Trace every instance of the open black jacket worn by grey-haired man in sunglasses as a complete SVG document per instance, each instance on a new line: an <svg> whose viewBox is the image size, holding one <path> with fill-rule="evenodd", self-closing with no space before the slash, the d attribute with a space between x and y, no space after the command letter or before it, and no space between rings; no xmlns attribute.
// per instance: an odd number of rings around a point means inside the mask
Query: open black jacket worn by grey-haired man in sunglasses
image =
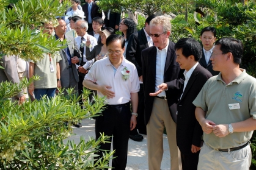
<svg viewBox="0 0 256 170"><path fill-rule="evenodd" d="M170 41L166 56L166 65L164 67L164 82L170 82L178 79L182 75L180 66L176 62L176 54L174 50L174 43ZM155 82L156 82L156 47L152 46L146 48L141 52L142 62L142 76L143 76L143 87L145 94L145 125L147 125L151 113L155 97L149 96L149 93L155 93ZM169 88L169 87L168 87ZM172 88L172 87L170 87ZM169 94L170 91L166 91L167 102L170 110L170 115L174 122L177 121L177 99L178 91L174 91Z"/></svg>

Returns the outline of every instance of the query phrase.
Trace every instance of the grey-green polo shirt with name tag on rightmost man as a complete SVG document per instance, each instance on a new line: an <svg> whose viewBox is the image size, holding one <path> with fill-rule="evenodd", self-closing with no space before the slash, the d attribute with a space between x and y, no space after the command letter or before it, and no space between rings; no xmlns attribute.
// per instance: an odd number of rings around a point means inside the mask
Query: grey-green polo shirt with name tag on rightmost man
<svg viewBox="0 0 256 170"><path fill-rule="evenodd" d="M230 124L253 117L256 119L256 79L245 69L228 85L218 76L211 77L194 100L196 107L206 112L205 118L215 124ZM229 104L239 104L239 109L230 110ZM256 121L255 121L256 123ZM227 149L249 141L253 131L233 132L219 138L213 132L203 133L203 140L214 149Z"/></svg>

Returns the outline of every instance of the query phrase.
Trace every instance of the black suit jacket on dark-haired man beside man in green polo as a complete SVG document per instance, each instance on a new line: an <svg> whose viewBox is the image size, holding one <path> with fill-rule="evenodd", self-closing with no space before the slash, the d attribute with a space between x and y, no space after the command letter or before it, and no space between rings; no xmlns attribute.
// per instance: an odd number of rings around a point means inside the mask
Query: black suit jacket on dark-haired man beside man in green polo
<svg viewBox="0 0 256 170"><path fill-rule="evenodd" d="M178 115L177 115L177 146L182 154L192 154L191 144L200 147L202 141L203 130L195 116L196 106L192 104L199 94L203 85L207 80L212 77L211 73L203 68L201 65L197 65L194 69L191 77L188 80L188 84L183 92L183 80L180 87L181 99L178 101ZM175 82L175 81L174 81ZM177 82L173 83L174 87L177 87Z"/></svg>

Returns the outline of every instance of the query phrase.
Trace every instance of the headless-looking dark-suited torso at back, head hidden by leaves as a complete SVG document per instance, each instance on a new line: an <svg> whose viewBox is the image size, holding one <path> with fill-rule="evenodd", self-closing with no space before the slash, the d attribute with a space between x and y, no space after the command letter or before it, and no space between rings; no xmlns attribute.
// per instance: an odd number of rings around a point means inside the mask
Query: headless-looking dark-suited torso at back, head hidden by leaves
<svg viewBox="0 0 256 170"><path fill-rule="evenodd" d="M111 12L109 9L109 11L105 13L105 16L106 18L104 19L104 27L111 27L115 31L119 30L121 13Z"/></svg>

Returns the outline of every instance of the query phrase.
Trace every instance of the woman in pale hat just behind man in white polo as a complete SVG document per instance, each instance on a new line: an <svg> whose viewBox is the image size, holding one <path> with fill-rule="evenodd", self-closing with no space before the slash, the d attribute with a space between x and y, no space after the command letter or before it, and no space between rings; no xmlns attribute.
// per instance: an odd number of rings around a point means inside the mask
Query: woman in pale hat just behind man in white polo
<svg viewBox="0 0 256 170"><path fill-rule="evenodd" d="M97 60L108 57L107 56L108 51L107 51L107 46L106 46L106 39L111 34L115 34L115 30L112 29L111 27L106 27L104 30L102 30L100 32L101 44L94 46L92 51L90 51L89 48L86 48L86 59L87 60L93 60L93 58L94 58L95 62L96 62ZM90 46L90 40L86 41L86 46Z"/></svg>

